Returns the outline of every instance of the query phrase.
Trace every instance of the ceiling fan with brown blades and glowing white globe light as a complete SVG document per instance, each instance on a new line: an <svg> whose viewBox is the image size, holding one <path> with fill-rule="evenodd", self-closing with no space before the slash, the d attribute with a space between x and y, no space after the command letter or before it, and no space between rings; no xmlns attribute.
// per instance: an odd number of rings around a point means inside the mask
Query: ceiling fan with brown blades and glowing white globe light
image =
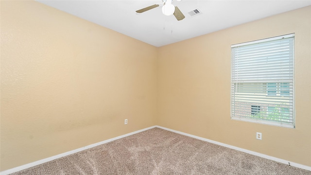
<svg viewBox="0 0 311 175"><path fill-rule="evenodd" d="M177 20L182 20L185 18L184 14L179 10L179 8L177 6L174 6L172 4L173 0L162 0L163 2L163 6L162 6L162 13L164 15L170 16L170 15L174 15L175 18ZM181 1L181 0L177 0L177 1ZM145 8L142 8L140 10L137 10L137 13L142 13L142 12L146 12L148 10L154 9L155 7L158 7L159 4L154 4Z"/></svg>

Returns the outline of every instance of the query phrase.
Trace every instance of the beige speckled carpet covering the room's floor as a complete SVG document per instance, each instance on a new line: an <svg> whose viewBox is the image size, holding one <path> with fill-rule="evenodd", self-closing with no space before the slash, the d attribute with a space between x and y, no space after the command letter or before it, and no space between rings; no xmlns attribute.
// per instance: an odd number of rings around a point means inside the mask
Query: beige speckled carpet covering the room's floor
<svg viewBox="0 0 311 175"><path fill-rule="evenodd" d="M311 172L153 128L12 175L311 175Z"/></svg>

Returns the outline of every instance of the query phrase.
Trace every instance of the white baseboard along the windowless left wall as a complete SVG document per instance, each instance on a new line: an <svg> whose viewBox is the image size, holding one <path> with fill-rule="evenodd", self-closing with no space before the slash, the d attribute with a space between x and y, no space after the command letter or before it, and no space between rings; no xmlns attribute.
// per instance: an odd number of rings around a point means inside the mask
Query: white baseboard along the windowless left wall
<svg viewBox="0 0 311 175"><path fill-rule="evenodd" d="M151 126L151 127L144 128L144 129L141 129L141 130L138 130L138 131L134 131L134 132L131 132L131 133L128 133L128 134L124 134L122 136L118 136L118 137L115 137L115 138L112 138L112 139L108 139L108 140L104 140L104 141L101 141L101 142L98 142L98 143L87 145L85 147L78 148L78 149L75 149L75 150L72 150L72 151L69 151L69 152L66 152L66 153L62 153L62 154L59 154L59 155L56 155L56 156L44 158L44 159L41 159L41 160L38 160L38 161L35 161L35 162L32 162L32 163L21 165L21 166L18 166L18 167L9 169L9 170L2 171L2 172L0 172L0 175L8 175L8 174L11 174L11 173L15 173L15 172L18 172L18 171L21 171L21 170L24 170L24 169L27 169L27 168L30 168L30 167L33 167L33 166L36 166L36 165L39 165L39 164L42 164L42 163L54 160L54 159L57 159L57 158L60 158L60 157L69 156L71 154L74 154L74 153L77 153L77 152L80 152L80 151L84 151L86 149L93 148L95 146L99 146L101 144L108 143L108 142L113 141L113 140L118 140L118 139L130 136L130 135L133 135L133 134L137 134L139 132L146 131L148 129L155 128L155 127L156 126Z"/></svg>

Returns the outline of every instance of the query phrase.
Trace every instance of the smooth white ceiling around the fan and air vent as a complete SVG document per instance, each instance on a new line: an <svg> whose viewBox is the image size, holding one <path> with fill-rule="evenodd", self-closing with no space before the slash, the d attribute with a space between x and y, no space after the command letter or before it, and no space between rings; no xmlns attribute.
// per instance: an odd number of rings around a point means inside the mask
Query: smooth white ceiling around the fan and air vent
<svg viewBox="0 0 311 175"><path fill-rule="evenodd" d="M162 14L162 0L37 0L156 47L311 5L311 0L173 0L186 18ZM138 14L141 8L159 7ZM188 13L198 9L200 15Z"/></svg>

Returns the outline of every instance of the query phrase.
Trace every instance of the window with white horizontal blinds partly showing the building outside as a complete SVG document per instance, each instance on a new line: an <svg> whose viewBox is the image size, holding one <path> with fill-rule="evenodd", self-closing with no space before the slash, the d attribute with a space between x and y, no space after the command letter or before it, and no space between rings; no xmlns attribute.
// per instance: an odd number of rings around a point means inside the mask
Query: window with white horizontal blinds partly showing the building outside
<svg viewBox="0 0 311 175"><path fill-rule="evenodd" d="M294 128L294 34L231 46L231 119Z"/></svg>

